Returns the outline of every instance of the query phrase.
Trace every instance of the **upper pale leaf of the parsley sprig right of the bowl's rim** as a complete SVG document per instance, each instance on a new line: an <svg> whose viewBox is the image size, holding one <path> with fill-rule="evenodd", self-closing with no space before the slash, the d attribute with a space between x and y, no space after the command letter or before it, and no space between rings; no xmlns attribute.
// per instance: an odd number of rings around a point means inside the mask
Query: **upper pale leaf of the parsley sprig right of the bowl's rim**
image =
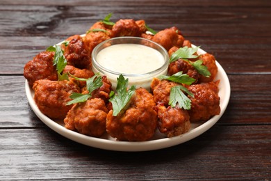
<svg viewBox="0 0 271 181"><path fill-rule="evenodd" d="M172 56L170 56L170 63L177 61L179 58L197 58L198 56L194 54L198 49L199 47L181 47L176 52L174 52Z"/></svg>

